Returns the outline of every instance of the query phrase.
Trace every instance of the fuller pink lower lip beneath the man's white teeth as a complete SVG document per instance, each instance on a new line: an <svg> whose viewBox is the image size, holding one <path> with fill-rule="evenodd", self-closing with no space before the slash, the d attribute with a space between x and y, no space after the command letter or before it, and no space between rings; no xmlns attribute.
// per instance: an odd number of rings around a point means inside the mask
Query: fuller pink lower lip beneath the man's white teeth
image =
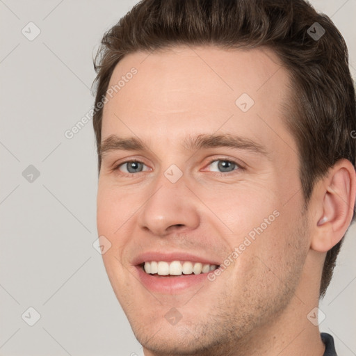
<svg viewBox="0 0 356 356"><path fill-rule="evenodd" d="M140 282L149 289L149 291L165 294L176 294L197 284L207 283L208 273L200 275L180 275L177 277L161 277L145 273L141 266L136 266Z"/></svg>

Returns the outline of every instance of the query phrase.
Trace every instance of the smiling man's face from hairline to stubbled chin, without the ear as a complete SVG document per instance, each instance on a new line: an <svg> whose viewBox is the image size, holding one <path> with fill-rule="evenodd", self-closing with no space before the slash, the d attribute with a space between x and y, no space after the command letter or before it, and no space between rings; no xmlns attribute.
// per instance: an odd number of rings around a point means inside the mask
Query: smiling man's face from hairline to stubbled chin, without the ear
<svg viewBox="0 0 356 356"><path fill-rule="evenodd" d="M175 47L125 56L108 88L122 76L102 122L108 277L147 350L220 355L297 302L309 237L288 72L267 49ZM205 135L220 138L190 147Z"/></svg>

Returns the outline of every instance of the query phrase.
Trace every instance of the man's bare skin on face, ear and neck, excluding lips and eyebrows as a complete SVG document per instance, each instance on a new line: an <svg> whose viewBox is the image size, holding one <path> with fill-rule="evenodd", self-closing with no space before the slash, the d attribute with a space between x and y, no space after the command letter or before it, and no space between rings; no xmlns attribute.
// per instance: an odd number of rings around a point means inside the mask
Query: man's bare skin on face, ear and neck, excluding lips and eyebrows
<svg viewBox="0 0 356 356"><path fill-rule="evenodd" d="M102 141L135 136L149 150L103 154L97 227L111 241L104 265L146 356L323 355L307 314L318 305L325 252L350 224L355 170L339 161L303 211L298 149L282 110L291 83L281 64L269 49L179 46L129 54L115 67L109 87L131 67L138 73L108 98ZM254 100L245 113L235 104L242 93ZM266 154L181 144L201 133L234 133ZM144 165L129 173L128 159ZM240 167L224 172L213 160ZM164 175L172 164L183 173L174 184ZM139 282L138 253L179 250L223 263L273 211L279 216L213 282L175 294ZM165 319L172 307L181 314L175 325Z"/></svg>

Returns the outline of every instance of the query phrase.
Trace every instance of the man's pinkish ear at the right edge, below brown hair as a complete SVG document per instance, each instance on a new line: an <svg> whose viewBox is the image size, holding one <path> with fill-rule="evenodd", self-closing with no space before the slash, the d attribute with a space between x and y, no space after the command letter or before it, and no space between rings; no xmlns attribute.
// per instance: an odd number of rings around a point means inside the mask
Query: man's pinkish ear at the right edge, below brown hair
<svg viewBox="0 0 356 356"><path fill-rule="evenodd" d="M341 159L315 186L312 250L327 252L341 240L353 218L355 195L355 168Z"/></svg>

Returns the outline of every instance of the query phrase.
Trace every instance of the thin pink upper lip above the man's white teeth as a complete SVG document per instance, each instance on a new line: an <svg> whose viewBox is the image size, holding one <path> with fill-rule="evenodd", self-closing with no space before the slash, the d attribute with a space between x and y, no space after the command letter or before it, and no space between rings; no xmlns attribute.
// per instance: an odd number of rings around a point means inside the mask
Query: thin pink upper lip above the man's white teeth
<svg viewBox="0 0 356 356"><path fill-rule="evenodd" d="M147 261L191 261L191 262L201 262L202 264L215 264L220 266L220 263L216 259L211 259L209 257L204 257L203 254L189 254L187 252L157 252L157 251L147 251L136 256L132 264L140 265Z"/></svg>

